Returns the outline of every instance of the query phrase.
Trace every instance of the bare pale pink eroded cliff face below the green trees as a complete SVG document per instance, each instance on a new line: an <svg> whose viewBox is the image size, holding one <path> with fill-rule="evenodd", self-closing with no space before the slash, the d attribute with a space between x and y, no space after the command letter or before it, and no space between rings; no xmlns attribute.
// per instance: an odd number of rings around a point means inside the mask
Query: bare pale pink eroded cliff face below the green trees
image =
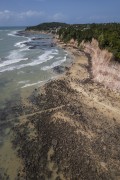
<svg viewBox="0 0 120 180"><path fill-rule="evenodd" d="M86 53L91 56L93 80L111 89L120 90L120 64L113 60L112 53L99 48L98 41L81 43Z"/></svg>

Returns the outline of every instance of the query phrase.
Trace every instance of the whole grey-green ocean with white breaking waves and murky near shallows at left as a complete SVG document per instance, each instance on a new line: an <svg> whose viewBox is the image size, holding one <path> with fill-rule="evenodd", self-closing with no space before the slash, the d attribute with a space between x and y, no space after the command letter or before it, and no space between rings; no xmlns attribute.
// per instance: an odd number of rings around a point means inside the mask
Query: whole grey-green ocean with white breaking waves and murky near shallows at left
<svg viewBox="0 0 120 180"><path fill-rule="evenodd" d="M10 138L17 122L9 107L21 97L21 90L37 88L58 76L53 68L71 61L65 50L53 44L52 35L24 29L0 28L0 178L6 173L14 179L19 164Z"/></svg>

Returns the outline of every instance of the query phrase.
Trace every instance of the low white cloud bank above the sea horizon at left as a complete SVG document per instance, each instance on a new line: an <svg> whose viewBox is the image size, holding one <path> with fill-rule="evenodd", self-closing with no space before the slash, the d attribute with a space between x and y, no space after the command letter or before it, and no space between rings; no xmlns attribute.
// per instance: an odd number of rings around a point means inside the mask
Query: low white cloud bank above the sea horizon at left
<svg viewBox="0 0 120 180"><path fill-rule="evenodd" d="M31 25L41 22L49 21L61 21L65 22L67 17L62 13L55 13L49 15L43 11L33 11L28 10L24 12L15 12L4 10L0 11L0 25L9 26L9 25Z"/></svg>

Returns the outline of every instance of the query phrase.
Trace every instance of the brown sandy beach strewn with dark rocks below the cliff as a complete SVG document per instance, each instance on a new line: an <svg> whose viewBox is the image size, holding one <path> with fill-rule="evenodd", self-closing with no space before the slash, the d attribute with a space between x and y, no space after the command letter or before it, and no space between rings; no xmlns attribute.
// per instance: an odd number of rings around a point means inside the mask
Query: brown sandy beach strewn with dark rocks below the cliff
<svg viewBox="0 0 120 180"><path fill-rule="evenodd" d="M23 93L14 127L18 179L120 179L120 93L93 82L90 58L63 43L73 62L63 74Z"/></svg>

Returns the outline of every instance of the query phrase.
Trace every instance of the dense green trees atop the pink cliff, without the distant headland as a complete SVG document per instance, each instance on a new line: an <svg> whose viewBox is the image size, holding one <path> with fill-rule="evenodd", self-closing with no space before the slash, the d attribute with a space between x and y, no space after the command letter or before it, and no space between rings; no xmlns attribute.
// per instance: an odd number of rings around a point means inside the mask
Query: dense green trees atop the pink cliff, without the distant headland
<svg viewBox="0 0 120 180"><path fill-rule="evenodd" d="M108 49L113 53L115 60L120 62L119 23L70 25L61 28L58 34L65 43L74 39L80 44L83 40L91 41L92 38L95 38L101 49Z"/></svg>

